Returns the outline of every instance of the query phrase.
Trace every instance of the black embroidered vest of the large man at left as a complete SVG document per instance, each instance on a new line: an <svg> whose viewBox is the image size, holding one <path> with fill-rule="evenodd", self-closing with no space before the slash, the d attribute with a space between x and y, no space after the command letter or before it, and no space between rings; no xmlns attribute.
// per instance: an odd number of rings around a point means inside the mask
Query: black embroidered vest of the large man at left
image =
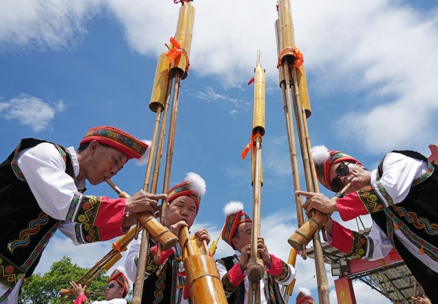
<svg viewBox="0 0 438 304"><path fill-rule="evenodd" d="M32 148L39 139L22 139L20 145L0 165L0 284L13 288L16 281L29 277L34 271L47 242L61 221L44 213L20 168L16 165L18 152ZM66 174L74 177L73 165L65 149Z"/></svg>

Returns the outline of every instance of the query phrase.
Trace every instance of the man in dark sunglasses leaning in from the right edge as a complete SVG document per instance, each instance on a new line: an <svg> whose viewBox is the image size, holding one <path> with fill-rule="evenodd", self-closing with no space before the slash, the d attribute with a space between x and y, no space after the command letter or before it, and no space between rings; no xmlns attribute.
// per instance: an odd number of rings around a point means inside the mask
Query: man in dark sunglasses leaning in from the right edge
<svg viewBox="0 0 438 304"><path fill-rule="evenodd" d="M296 191L307 197L307 215L315 208L338 211L344 221L371 214L370 234L342 227L329 219L329 243L366 260L385 258L393 247L423 286L432 303L438 303L438 166L413 151L385 155L378 169L368 171L355 158L324 146L312 150L318 180L337 192L351 186L336 201L320 193Z"/></svg>

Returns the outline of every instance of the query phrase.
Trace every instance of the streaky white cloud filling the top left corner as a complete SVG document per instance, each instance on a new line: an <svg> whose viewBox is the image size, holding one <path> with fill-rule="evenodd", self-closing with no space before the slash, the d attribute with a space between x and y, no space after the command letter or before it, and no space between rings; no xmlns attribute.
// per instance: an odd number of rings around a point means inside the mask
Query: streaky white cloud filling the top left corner
<svg viewBox="0 0 438 304"><path fill-rule="evenodd" d="M68 50L86 34L101 1L4 1L0 11L0 50Z"/></svg>

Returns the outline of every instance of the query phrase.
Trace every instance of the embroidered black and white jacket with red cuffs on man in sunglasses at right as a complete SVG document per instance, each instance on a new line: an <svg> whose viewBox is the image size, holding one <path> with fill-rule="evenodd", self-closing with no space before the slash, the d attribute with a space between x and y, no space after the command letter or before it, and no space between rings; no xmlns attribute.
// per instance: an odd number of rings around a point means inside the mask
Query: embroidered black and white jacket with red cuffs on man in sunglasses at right
<svg viewBox="0 0 438 304"><path fill-rule="evenodd" d="M417 152L393 151L385 156L373 171L372 184L337 200L344 221L371 214L370 235L333 222L331 240L333 247L368 260L383 258L396 247L433 303L438 303L437 169Z"/></svg>

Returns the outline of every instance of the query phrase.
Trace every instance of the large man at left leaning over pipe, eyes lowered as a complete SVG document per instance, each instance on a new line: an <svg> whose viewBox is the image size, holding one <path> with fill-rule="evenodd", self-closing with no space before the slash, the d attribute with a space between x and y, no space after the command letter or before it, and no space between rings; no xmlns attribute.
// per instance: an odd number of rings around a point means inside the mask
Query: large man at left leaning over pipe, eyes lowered
<svg viewBox="0 0 438 304"><path fill-rule="evenodd" d="M110 240L127 232L135 217L154 212L167 195L140 191L129 199L83 195L86 180L100 184L116 175L148 145L110 126L91 128L79 143L63 148L22 139L0 165L0 303L17 303L47 242L59 229L75 245Z"/></svg>

